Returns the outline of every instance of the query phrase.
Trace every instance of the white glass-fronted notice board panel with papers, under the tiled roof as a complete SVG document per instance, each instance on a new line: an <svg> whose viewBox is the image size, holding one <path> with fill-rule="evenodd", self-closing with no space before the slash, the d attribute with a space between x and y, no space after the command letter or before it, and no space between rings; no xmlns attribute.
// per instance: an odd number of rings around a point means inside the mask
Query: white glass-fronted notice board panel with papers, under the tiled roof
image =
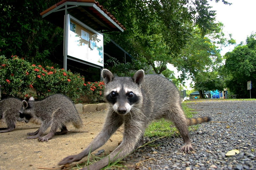
<svg viewBox="0 0 256 170"><path fill-rule="evenodd" d="M103 67L103 36L70 19L68 55Z"/></svg>

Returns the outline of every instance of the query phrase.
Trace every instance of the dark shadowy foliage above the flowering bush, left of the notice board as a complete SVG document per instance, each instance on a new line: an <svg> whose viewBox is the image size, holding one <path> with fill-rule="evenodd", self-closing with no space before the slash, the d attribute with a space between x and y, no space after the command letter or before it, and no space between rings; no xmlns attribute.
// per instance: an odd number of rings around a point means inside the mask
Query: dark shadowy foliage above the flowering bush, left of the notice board
<svg viewBox="0 0 256 170"><path fill-rule="evenodd" d="M0 2L0 49L3 55L44 64L63 41L63 30L39 15L59 0ZM47 63L45 63L47 64Z"/></svg>

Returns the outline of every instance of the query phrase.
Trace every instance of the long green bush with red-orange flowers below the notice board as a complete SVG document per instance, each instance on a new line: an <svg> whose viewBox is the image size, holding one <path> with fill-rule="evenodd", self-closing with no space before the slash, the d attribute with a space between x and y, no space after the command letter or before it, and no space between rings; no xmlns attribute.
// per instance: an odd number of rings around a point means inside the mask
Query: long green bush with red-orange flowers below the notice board
<svg viewBox="0 0 256 170"><path fill-rule="evenodd" d="M0 84L6 96L24 99L34 96L42 99L51 94L61 93L76 101L86 95L90 103L104 100L104 82L87 82L79 73L54 67L30 64L24 59L0 56ZM4 96L4 95L3 95Z"/></svg>

